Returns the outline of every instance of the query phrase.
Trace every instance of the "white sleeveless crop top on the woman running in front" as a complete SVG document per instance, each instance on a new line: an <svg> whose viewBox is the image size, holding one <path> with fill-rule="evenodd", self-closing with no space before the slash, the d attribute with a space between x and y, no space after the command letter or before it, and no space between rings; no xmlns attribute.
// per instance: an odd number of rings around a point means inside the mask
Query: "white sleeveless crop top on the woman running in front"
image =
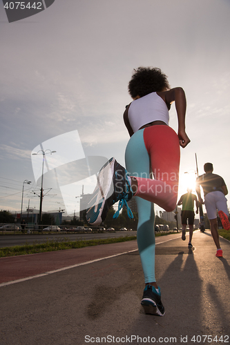
<svg viewBox="0 0 230 345"><path fill-rule="evenodd" d="M157 92L151 92L131 103L128 108L128 121L133 132L153 121L163 121L169 125L169 109Z"/></svg>

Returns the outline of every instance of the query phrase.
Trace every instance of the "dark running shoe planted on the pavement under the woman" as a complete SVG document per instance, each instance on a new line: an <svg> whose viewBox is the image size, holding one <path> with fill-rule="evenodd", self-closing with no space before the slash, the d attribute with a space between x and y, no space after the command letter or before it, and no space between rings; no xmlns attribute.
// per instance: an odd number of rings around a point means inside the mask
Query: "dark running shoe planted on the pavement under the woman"
<svg viewBox="0 0 230 345"><path fill-rule="evenodd" d="M146 314L163 316L165 314L164 306L161 300L160 288L159 293L154 286L146 285L142 297L142 306Z"/></svg>

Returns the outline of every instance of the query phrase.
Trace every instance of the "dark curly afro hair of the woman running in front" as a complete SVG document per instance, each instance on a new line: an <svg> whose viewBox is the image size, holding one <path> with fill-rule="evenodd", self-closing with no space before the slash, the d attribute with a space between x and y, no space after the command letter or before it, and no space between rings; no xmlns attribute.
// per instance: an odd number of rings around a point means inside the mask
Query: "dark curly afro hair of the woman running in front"
<svg viewBox="0 0 230 345"><path fill-rule="evenodd" d="M139 67L134 70L131 81L128 83L128 93L133 99L146 96L151 92L169 90L167 76L160 68Z"/></svg>

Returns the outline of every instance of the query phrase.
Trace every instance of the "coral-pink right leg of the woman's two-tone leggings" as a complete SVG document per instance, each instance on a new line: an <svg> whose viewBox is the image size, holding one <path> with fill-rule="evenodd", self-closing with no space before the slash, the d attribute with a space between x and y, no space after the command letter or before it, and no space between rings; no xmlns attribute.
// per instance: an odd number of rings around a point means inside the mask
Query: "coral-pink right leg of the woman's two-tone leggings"
<svg viewBox="0 0 230 345"><path fill-rule="evenodd" d="M135 196L171 212L175 209L178 199L180 165L178 135L169 126L157 125L144 128L143 137L154 179L134 175L138 184Z"/></svg>

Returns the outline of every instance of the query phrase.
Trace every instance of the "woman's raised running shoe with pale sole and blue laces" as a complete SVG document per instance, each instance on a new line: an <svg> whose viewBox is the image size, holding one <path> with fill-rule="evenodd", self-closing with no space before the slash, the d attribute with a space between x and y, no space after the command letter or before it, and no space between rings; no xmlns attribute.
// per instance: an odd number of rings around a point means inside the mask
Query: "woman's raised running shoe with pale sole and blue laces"
<svg viewBox="0 0 230 345"><path fill-rule="evenodd" d="M128 171L117 163L115 158L109 159L97 175L97 186L86 210L88 223L95 226L101 224L106 219L108 210L117 201L119 201L118 210L113 217L117 218L119 211L126 206L128 217L133 218L133 213L127 204L133 194L128 181Z"/></svg>

